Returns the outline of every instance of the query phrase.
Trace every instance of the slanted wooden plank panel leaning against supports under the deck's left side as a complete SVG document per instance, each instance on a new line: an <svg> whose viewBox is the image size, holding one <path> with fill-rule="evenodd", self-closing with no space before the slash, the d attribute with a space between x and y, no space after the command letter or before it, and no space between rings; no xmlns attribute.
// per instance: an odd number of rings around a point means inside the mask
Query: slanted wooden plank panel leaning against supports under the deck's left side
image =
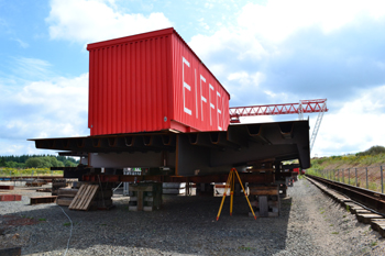
<svg viewBox="0 0 385 256"><path fill-rule="evenodd" d="M68 209L88 211L98 189L98 185L81 185Z"/></svg>

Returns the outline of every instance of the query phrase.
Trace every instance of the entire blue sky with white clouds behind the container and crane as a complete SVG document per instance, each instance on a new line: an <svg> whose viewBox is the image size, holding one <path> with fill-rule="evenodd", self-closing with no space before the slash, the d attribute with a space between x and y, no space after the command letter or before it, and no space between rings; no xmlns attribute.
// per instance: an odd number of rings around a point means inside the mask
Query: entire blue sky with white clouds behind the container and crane
<svg viewBox="0 0 385 256"><path fill-rule="evenodd" d="M26 138L89 135L86 45L169 26L231 107L327 98L312 156L385 145L384 1L0 0L0 155L47 153Z"/></svg>

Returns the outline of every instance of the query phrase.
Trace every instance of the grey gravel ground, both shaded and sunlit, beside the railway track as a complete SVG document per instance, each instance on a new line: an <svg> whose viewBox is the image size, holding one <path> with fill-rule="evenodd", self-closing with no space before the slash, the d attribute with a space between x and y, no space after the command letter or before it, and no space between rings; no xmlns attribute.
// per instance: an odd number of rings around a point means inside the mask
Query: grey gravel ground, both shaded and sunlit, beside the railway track
<svg viewBox="0 0 385 256"><path fill-rule="evenodd" d="M4 191L2 191L3 193ZM48 193L18 187L21 202L0 202L0 248L22 246L23 255L64 255L70 224L54 203L29 205ZM370 225L307 180L282 199L279 218L248 216L243 197L229 199L216 221L221 198L164 196L154 212L128 211L116 196L110 211L69 211L74 227L67 255L385 255L385 240Z"/></svg>

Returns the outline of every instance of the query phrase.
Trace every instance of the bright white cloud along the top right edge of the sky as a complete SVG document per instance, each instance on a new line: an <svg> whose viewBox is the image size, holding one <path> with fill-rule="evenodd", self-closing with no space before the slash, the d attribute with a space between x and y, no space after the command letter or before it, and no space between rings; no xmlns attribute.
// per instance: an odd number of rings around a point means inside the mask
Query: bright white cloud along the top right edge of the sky
<svg viewBox="0 0 385 256"><path fill-rule="evenodd" d="M318 26L324 33L339 30L362 15L385 15L381 0L270 0L265 5L248 3L239 15L239 26L263 38L279 42L300 29Z"/></svg>

